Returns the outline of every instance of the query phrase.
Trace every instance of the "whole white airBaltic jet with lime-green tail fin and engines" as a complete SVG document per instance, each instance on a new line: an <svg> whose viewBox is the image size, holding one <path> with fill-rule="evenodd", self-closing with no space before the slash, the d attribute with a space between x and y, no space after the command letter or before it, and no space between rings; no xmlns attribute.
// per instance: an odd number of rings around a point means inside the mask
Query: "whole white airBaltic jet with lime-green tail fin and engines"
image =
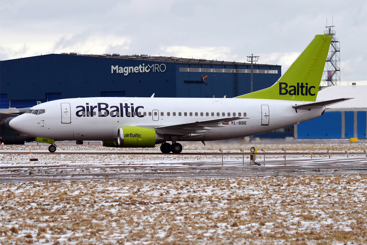
<svg viewBox="0 0 367 245"><path fill-rule="evenodd" d="M36 141L100 140L105 147L182 151L179 141L226 140L265 133L323 115L316 101L331 35L316 35L271 87L235 98L94 97L54 100L9 122ZM172 144L168 143L171 142Z"/></svg>

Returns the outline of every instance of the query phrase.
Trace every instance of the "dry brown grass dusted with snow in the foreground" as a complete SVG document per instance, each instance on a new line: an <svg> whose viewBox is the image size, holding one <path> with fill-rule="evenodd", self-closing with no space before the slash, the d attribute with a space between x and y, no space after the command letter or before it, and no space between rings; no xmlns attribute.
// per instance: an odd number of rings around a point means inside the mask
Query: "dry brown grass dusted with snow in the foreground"
<svg viewBox="0 0 367 245"><path fill-rule="evenodd" d="M367 244L367 176L0 183L0 244Z"/></svg>

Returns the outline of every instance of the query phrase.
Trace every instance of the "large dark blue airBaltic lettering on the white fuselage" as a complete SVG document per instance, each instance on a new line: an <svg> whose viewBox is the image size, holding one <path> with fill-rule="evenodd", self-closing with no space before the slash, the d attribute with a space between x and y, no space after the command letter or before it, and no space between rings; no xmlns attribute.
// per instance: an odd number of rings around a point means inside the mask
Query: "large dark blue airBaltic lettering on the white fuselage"
<svg viewBox="0 0 367 245"><path fill-rule="evenodd" d="M77 117L81 117L81 116L123 117L123 116L126 116L128 118L130 117L133 118L134 116L137 116L139 118L142 118L144 116L142 115L141 112L139 112L139 109L144 109L144 107L137 106L134 108L134 103L120 103L119 106L117 105L109 106L107 103L97 103L97 105L89 105L89 103L86 103L86 105L78 105L76 109L79 109L75 113ZM95 110L98 110L98 115Z"/></svg>

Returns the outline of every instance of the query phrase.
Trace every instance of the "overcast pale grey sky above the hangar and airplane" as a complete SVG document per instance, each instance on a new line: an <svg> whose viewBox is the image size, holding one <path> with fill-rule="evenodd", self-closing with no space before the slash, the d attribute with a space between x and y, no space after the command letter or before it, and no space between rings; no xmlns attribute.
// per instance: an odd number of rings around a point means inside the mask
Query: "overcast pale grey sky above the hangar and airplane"
<svg viewBox="0 0 367 245"><path fill-rule="evenodd" d="M341 81L367 84L367 1L0 1L0 59L148 54L278 64L335 25Z"/></svg>

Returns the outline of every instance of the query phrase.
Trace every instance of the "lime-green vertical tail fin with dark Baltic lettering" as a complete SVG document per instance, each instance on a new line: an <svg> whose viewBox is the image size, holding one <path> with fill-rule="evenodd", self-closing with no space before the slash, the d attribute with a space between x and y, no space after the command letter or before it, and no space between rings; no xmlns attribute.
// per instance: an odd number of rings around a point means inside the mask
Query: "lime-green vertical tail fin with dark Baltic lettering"
<svg viewBox="0 0 367 245"><path fill-rule="evenodd" d="M316 35L271 87L235 98L316 101L332 35Z"/></svg>

